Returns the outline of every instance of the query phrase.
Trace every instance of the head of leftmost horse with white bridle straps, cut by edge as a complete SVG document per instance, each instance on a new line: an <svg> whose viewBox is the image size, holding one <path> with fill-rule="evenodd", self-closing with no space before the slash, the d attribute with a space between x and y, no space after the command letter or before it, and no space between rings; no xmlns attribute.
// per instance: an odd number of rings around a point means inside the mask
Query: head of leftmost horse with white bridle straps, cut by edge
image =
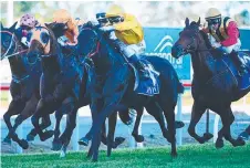
<svg viewBox="0 0 250 168"><path fill-rule="evenodd" d="M3 28L2 23L0 23L1 24L0 60L9 57L10 55L14 54L18 51L18 38L14 34L17 23L18 22L15 22L10 28Z"/></svg>

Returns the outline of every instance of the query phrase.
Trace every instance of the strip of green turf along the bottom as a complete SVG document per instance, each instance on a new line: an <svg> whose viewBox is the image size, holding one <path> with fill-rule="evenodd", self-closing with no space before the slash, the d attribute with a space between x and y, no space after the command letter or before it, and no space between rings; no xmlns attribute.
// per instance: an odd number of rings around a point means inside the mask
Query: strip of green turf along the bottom
<svg viewBox="0 0 250 168"><path fill-rule="evenodd" d="M101 151L98 162L92 162L85 158L86 153L69 153L66 158L60 159L56 154L39 155L3 155L2 168L132 168L132 167L250 167L250 144L233 148L227 144L217 150L213 145L188 145L178 147L178 157L169 156L169 147L119 149L112 154L111 158Z"/></svg>

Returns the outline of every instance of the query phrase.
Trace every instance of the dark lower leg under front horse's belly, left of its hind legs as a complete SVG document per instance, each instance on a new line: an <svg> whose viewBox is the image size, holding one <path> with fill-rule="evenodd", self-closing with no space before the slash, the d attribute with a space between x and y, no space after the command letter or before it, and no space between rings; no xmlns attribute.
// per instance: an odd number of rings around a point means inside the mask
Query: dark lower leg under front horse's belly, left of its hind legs
<svg viewBox="0 0 250 168"><path fill-rule="evenodd" d="M137 115L136 115L134 129L132 132L132 136L135 138L135 141L143 143L144 136L138 134L139 124L140 124L142 117L143 117L143 107L136 108L136 112L137 112Z"/></svg>

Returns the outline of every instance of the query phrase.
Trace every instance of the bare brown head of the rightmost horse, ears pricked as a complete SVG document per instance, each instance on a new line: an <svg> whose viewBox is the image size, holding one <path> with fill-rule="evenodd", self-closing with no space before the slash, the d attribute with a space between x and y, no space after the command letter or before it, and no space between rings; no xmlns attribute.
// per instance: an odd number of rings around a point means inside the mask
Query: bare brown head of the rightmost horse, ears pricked
<svg viewBox="0 0 250 168"><path fill-rule="evenodd" d="M200 19L198 22L191 22L189 24L189 19L186 18L186 27L179 33L178 41L171 48L171 55L176 59L179 59L183 55L195 52L199 48L201 41L199 25Z"/></svg>

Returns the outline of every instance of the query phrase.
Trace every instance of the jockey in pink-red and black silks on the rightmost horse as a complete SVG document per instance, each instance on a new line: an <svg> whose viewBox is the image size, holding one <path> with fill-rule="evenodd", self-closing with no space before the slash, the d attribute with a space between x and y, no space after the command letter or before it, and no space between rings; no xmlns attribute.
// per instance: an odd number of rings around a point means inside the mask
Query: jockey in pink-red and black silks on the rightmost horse
<svg viewBox="0 0 250 168"><path fill-rule="evenodd" d="M238 55L241 42L237 22L229 17L221 18L220 11L216 8L210 8L205 19L208 22L208 27L204 31L209 33L211 45L223 53L230 54L238 66L239 75L242 76L247 73L247 69Z"/></svg>

